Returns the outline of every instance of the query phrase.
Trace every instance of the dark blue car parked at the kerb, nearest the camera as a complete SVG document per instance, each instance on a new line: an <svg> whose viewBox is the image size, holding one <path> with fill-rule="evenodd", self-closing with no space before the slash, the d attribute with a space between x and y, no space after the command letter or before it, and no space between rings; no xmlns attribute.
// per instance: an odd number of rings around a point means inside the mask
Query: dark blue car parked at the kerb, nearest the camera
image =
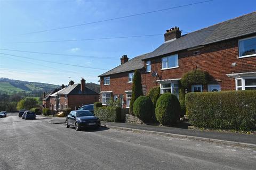
<svg viewBox="0 0 256 170"><path fill-rule="evenodd" d="M75 129L99 128L100 120L90 111L71 111L66 118L66 128L75 126Z"/></svg>

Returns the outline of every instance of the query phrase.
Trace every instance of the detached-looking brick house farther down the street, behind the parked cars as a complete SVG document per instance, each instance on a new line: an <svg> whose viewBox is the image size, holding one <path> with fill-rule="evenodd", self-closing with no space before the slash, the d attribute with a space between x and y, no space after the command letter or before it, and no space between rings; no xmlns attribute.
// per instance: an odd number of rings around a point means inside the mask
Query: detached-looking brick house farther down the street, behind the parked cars
<svg viewBox="0 0 256 170"><path fill-rule="evenodd" d="M99 101L99 94L85 87L85 80L81 84L73 84L50 95L51 111L65 108L77 109L82 105L93 104Z"/></svg>

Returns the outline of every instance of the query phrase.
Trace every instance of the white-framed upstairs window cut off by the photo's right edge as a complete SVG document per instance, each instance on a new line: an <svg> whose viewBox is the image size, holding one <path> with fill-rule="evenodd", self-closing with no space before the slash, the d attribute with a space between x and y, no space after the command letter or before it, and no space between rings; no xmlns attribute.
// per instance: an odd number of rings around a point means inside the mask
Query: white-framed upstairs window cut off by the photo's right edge
<svg viewBox="0 0 256 170"><path fill-rule="evenodd" d="M239 40L239 57L256 56L256 37Z"/></svg>

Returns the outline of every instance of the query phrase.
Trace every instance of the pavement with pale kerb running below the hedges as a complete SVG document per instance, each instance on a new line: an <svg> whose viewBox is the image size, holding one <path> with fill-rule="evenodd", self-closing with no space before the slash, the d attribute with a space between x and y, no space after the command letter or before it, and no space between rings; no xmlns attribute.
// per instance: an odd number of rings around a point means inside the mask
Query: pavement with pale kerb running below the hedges
<svg viewBox="0 0 256 170"><path fill-rule="evenodd" d="M50 120L50 123L65 123L65 117L55 117ZM196 140L212 141L225 143L228 145L241 145L246 147L256 148L256 135L244 134L235 132L221 132L221 131L202 131L194 129L186 129L185 126L166 127L166 126L154 126L146 124L129 124L129 123L116 123L116 122L101 122L102 126L106 126L110 129L119 129L134 132L153 133L160 135L167 135L171 137L189 138Z"/></svg>

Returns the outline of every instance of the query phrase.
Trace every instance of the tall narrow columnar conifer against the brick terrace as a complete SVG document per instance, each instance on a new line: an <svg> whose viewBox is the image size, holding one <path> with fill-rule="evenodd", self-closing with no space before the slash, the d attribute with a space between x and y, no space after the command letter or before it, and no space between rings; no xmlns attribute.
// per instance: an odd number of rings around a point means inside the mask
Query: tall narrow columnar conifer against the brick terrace
<svg viewBox="0 0 256 170"><path fill-rule="evenodd" d="M132 99L130 101L130 106L129 106L130 107L129 112L131 115L133 115L133 103L140 96L143 96L141 75L138 70L135 70L133 75L133 83L132 83Z"/></svg>

